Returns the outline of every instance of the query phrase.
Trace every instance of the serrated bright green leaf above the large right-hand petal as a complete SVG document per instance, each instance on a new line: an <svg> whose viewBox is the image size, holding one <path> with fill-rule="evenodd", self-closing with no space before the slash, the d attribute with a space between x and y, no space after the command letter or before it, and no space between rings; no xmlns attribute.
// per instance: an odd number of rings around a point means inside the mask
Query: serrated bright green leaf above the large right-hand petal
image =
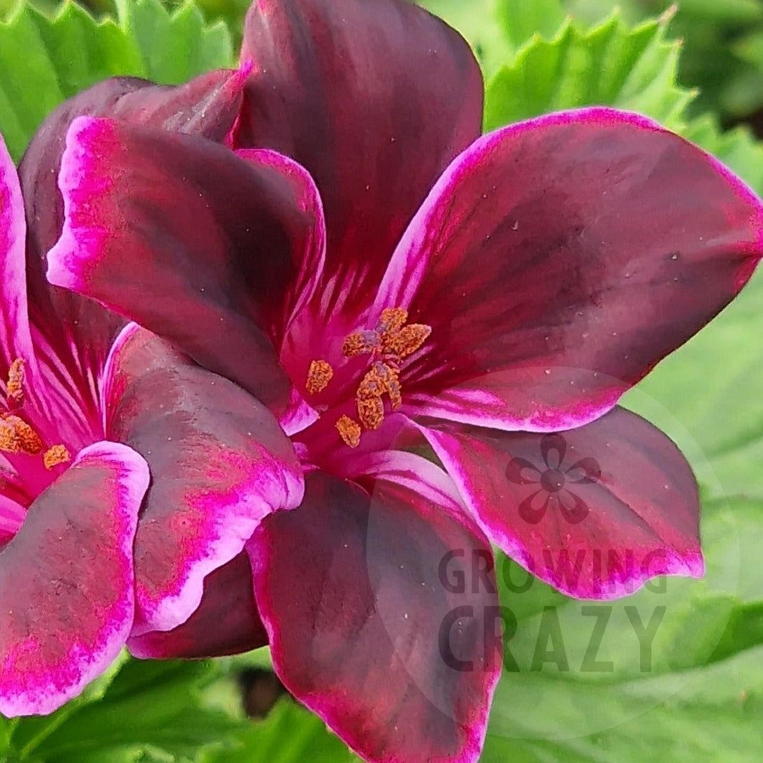
<svg viewBox="0 0 763 763"><path fill-rule="evenodd" d="M681 127L694 92L676 83L681 48L666 40L667 24L665 16L629 28L614 14L590 30L567 21L552 40L531 38L488 82L486 129L587 105Z"/></svg>

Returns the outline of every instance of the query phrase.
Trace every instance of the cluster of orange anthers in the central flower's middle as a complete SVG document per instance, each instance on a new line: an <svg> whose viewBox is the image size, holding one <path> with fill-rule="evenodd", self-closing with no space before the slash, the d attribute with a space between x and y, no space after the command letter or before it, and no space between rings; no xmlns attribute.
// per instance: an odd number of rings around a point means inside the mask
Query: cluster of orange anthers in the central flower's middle
<svg viewBox="0 0 763 763"><path fill-rule="evenodd" d="M345 358L368 355L371 365L355 394L358 421L344 414L336 421L336 431L344 443L356 448L362 429L378 430L385 419L385 396L392 410L400 407L402 388L401 364L427 341L432 329L424 324L408 324L408 313L402 307L381 311L372 330L360 330L346 336L342 345ZM334 375L333 366L323 359L314 360L307 370L305 388L310 394L324 391Z"/></svg>

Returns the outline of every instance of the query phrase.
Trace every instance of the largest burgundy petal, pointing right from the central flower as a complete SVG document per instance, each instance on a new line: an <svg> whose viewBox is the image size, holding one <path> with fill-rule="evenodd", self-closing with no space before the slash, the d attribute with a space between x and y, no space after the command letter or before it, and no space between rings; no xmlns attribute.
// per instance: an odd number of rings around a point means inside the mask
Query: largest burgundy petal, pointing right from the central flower
<svg viewBox="0 0 763 763"><path fill-rule="evenodd" d="M378 296L432 327L409 412L508 430L593 420L732 300L761 230L739 179L634 114L568 111L481 138Z"/></svg>

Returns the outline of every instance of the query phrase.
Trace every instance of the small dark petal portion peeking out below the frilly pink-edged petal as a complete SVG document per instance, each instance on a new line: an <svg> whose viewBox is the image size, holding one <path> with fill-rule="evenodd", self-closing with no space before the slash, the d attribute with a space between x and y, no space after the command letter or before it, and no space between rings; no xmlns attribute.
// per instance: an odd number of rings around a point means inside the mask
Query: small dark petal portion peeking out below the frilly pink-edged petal
<svg viewBox="0 0 763 763"><path fill-rule="evenodd" d="M198 658L249 652L267 642L254 600L249 558L242 552L204 578L204 597L185 623L166 632L134 636L127 648L143 659Z"/></svg>

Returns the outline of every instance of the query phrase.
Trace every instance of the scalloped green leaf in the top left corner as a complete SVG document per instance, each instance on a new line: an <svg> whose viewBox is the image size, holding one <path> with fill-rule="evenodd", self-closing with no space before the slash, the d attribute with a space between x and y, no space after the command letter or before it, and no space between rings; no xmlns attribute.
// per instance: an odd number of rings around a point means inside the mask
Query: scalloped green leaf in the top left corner
<svg viewBox="0 0 763 763"><path fill-rule="evenodd" d="M191 2L168 14L158 0L131 0L119 23L74 2L53 16L24 3L0 21L0 132L18 159L53 108L101 79L175 84L232 60L227 29L206 27Z"/></svg>

